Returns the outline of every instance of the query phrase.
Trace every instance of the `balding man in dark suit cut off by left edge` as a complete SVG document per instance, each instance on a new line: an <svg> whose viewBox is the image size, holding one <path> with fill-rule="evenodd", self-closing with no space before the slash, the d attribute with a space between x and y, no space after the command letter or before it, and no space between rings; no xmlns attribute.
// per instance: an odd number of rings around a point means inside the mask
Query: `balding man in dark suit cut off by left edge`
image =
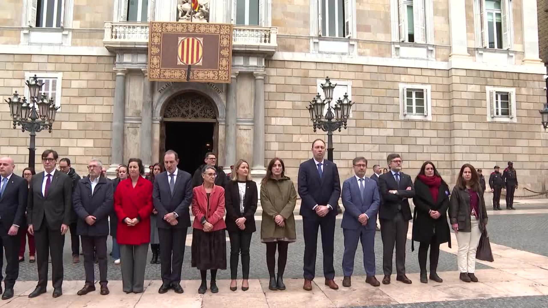
<svg viewBox="0 0 548 308"><path fill-rule="evenodd" d="M13 174L15 164L12 158L0 158L0 252L5 250L4 294L2 299L13 297L13 286L19 277L18 253L20 238L19 227L24 224L27 204L27 181ZM0 282L2 282L2 263L4 256L0 253ZM2 287L0 287L2 293Z"/></svg>

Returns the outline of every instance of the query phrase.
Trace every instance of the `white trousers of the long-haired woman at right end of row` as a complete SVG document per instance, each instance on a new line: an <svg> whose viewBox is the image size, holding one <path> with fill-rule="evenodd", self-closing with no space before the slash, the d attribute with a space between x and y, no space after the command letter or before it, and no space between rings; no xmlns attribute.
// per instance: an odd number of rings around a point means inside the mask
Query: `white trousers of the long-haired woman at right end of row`
<svg viewBox="0 0 548 308"><path fill-rule="evenodd" d="M476 250L481 237L479 231L479 221L476 216L470 217L472 230L471 232L459 231L456 233L456 242L459 246L459 253L456 258L456 263L459 266L461 273L473 273L476 271Z"/></svg>

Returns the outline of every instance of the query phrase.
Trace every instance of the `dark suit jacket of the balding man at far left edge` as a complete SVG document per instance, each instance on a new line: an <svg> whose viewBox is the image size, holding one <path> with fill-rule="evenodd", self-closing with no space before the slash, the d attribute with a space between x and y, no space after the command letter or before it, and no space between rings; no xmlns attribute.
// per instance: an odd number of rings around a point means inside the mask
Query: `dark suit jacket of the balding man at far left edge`
<svg viewBox="0 0 548 308"><path fill-rule="evenodd" d="M25 209L27 206L28 186L21 176L12 173L4 194L0 198L0 235L7 235L12 225L25 228Z"/></svg>

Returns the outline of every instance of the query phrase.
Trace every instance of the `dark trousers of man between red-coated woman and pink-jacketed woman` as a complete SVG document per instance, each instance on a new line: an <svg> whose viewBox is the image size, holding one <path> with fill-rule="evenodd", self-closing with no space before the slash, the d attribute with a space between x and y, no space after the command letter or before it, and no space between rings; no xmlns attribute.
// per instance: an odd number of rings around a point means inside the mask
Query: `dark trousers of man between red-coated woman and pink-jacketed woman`
<svg viewBox="0 0 548 308"><path fill-rule="evenodd" d="M164 283L164 286L181 282L182 260L185 256L186 231L187 228L158 228L162 282Z"/></svg>

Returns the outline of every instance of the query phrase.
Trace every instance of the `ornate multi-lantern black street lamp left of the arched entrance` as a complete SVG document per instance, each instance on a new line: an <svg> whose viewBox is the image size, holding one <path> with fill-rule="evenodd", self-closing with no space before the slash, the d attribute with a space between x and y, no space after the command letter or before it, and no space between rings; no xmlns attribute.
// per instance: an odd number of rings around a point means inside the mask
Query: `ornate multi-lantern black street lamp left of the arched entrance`
<svg viewBox="0 0 548 308"><path fill-rule="evenodd" d="M30 95L30 104L28 104L25 97L21 99L17 91L15 91L12 98L4 101L9 105L10 115L13 119L13 128L21 126L22 132L25 132L25 130L30 132L31 142L28 146L28 167L34 168L36 133L44 129L48 129L50 133L52 132L53 122L55 122L55 115L59 107L55 106L52 98L48 99L45 95L38 96L44 83L39 81L36 75L31 77L30 81L26 82L26 85Z"/></svg>

